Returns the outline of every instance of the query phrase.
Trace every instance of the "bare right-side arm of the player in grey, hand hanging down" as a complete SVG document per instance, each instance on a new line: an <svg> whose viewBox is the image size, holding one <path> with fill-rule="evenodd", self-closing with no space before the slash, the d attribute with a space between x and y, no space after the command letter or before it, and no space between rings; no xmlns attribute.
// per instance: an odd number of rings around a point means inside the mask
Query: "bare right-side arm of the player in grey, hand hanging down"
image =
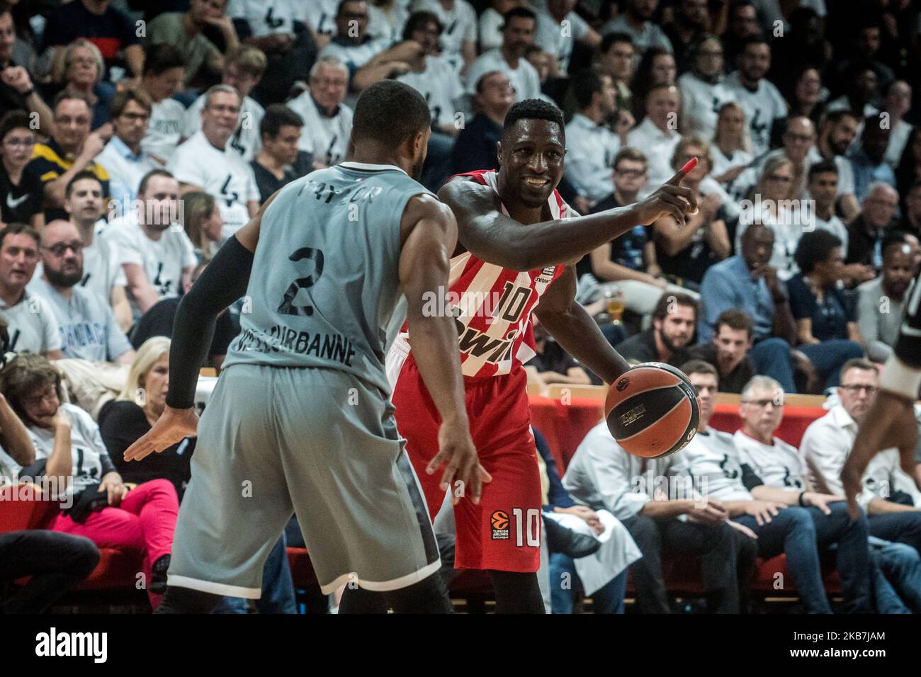
<svg viewBox="0 0 921 677"><path fill-rule="evenodd" d="M403 212L400 234L400 284L406 296L407 329L419 373L441 415L438 453L426 472L435 473L445 464L442 488L447 490L453 482L461 482L461 486L469 487L472 501L479 503L483 483L489 482L491 477L480 465L470 436L457 329L449 315L432 315L425 311L426 306L432 305L427 301L433 294L444 297L448 292L457 223L447 206L430 195L418 195ZM459 494L452 492L452 502L458 502Z"/></svg>

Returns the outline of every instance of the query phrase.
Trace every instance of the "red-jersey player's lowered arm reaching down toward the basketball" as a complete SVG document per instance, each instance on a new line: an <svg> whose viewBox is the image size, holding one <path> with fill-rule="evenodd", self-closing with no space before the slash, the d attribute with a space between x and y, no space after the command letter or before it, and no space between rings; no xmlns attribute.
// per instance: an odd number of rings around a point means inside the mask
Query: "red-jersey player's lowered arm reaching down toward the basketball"
<svg viewBox="0 0 921 677"><path fill-rule="evenodd" d="M576 302L576 272L571 266L547 287L534 314L556 343L605 383L613 383L630 368Z"/></svg>

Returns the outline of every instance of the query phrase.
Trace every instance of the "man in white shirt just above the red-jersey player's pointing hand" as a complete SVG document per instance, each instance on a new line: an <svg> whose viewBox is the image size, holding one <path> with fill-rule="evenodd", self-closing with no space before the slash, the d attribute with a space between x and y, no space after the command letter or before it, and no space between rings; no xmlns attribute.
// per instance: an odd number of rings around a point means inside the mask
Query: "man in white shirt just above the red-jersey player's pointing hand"
<svg viewBox="0 0 921 677"><path fill-rule="evenodd" d="M627 146L643 152L649 159L649 181L640 192L640 199L647 196L662 181L674 173L671 156L681 141L678 133L678 111L681 108L681 92L674 85L656 85L646 98L646 117L627 133Z"/></svg>

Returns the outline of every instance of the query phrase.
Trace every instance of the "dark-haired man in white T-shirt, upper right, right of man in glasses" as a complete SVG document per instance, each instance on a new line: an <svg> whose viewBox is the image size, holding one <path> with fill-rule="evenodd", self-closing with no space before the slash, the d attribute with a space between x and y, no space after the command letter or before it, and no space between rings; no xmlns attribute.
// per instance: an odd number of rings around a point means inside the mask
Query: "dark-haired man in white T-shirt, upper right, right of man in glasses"
<svg viewBox="0 0 921 677"><path fill-rule="evenodd" d="M745 111L755 158L770 150L775 121L787 117L787 101L764 77L770 68L771 46L764 38L754 36L743 43L739 70L726 78L727 87Z"/></svg>

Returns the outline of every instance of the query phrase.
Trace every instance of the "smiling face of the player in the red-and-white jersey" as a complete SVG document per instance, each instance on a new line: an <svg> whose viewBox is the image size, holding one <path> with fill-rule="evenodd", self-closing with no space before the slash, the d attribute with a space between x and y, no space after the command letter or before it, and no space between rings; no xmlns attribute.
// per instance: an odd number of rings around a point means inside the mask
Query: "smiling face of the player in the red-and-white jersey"
<svg viewBox="0 0 921 677"><path fill-rule="evenodd" d="M499 185L530 208L547 202L563 178L563 128L541 119L522 119L502 134Z"/></svg>

